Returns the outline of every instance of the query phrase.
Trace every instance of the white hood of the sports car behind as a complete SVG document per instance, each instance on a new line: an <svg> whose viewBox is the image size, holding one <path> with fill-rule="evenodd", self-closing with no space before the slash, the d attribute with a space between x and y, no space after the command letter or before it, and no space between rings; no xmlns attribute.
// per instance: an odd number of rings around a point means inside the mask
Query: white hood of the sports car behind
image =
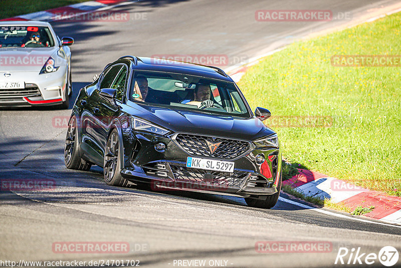
<svg viewBox="0 0 401 268"><path fill-rule="evenodd" d="M1 48L0 72L40 72L49 57L56 60L57 48Z"/></svg>

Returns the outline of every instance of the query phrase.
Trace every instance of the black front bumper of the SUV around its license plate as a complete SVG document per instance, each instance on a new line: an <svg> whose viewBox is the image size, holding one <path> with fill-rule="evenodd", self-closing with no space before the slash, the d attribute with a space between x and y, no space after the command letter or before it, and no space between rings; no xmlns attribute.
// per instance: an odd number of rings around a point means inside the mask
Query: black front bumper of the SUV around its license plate
<svg viewBox="0 0 401 268"><path fill-rule="evenodd" d="M278 148L257 149L250 143L249 149L237 158L219 158L235 164L234 173L228 173L186 167L187 157L199 156L188 154L173 136L136 133L126 138L129 139L124 139L124 168L121 174L128 181L150 183L154 190L179 189L240 197L263 197L277 193L281 172L281 152ZM164 152L154 148L160 142L166 145ZM265 162L261 165L255 161L258 154L265 155ZM210 156L203 158L216 159Z"/></svg>

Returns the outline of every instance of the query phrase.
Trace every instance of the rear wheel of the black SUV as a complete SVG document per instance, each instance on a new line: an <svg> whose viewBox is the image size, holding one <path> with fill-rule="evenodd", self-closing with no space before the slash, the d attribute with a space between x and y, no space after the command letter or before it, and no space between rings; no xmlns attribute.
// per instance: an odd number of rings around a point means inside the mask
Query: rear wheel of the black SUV
<svg viewBox="0 0 401 268"><path fill-rule="evenodd" d="M64 163L68 169L88 171L92 165L79 156L79 137L77 133L77 119L75 115L73 115L68 124L64 146Z"/></svg>

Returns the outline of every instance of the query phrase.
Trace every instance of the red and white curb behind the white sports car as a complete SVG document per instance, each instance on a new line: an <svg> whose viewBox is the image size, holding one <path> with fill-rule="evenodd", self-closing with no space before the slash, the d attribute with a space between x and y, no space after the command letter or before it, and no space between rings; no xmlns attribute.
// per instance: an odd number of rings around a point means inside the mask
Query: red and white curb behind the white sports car
<svg viewBox="0 0 401 268"><path fill-rule="evenodd" d="M127 2L127 0L88 1L47 11L20 15L0 21L53 21L59 19L61 16L63 19L69 19L82 14L109 9L111 7L119 5L122 2Z"/></svg>

